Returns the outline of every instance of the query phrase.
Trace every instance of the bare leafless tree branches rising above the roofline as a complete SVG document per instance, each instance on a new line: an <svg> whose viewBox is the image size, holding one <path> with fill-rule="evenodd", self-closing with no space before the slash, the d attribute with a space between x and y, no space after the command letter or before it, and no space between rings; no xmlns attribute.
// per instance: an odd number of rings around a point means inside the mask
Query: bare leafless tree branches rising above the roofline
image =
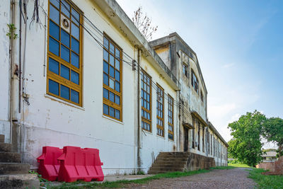
<svg viewBox="0 0 283 189"><path fill-rule="evenodd" d="M144 13L142 12L142 7L139 6L137 8L137 11L134 11L134 17L132 18L132 21L134 25L139 29L142 35L144 35L144 38L146 40L151 40L152 39L152 34L156 32L158 26L153 26L151 25L151 18L148 16L143 15Z"/></svg>

